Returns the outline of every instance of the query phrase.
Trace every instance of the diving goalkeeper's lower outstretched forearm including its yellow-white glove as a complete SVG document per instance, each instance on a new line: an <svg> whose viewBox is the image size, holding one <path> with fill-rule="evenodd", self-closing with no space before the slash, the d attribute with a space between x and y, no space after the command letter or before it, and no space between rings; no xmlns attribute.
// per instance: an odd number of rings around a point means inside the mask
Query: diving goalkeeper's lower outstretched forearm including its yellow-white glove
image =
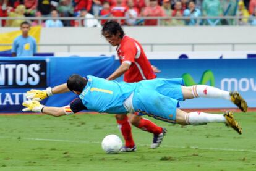
<svg viewBox="0 0 256 171"><path fill-rule="evenodd" d="M60 117L66 115L64 112L64 107L48 107L40 104L40 102L35 100L29 100L22 103L25 106L22 109L23 112L32 111L32 112L41 112L43 114L52 115L54 117Z"/></svg>

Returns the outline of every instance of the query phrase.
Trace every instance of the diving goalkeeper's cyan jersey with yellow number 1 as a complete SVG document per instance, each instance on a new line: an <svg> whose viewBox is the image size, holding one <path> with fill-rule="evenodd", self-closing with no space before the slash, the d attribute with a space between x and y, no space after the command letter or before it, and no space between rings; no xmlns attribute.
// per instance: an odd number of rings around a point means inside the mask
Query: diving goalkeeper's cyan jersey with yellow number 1
<svg viewBox="0 0 256 171"><path fill-rule="evenodd" d="M79 98L88 110L113 114L127 113L123 103L135 90L136 83L117 83L90 75L87 80Z"/></svg>

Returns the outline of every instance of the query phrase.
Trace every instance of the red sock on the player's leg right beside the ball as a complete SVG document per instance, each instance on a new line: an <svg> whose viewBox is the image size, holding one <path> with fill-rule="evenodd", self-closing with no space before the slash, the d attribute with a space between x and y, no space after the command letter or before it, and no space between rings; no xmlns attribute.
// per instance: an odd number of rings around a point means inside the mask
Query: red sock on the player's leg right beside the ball
<svg viewBox="0 0 256 171"><path fill-rule="evenodd" d="M130 127L130 123L128 122L128 117L124 117L123 120L116 120L119 124L119 128L121 130L122 136L124 137L124 141L126 141L126 147L132 148L134 147L134 139L132 138L132 128Z"/></svg>

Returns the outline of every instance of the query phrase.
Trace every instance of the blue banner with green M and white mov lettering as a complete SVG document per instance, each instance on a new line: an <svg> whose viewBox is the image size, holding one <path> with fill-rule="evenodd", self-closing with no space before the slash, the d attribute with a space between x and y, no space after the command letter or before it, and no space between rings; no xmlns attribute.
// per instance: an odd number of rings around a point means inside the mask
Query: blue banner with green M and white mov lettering
<svg viewBox="0 0 256 171"><path fill-rule="evenodd" d="M256 107L256 59L150 60L161 70L158 78L183 77L187 86L205 84L239 91L249 107ZM189 99L182 108L236 107L223 99Z"/></svg>

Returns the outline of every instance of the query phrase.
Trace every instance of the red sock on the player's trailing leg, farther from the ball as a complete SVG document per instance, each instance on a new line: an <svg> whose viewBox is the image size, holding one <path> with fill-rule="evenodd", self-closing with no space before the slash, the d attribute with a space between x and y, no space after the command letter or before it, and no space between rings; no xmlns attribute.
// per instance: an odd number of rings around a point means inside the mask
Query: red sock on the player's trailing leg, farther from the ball
<svg viewBox="0 0 256 171"><path fill-rule="evenodd" d="M137 128L140 128L143 131L148 131L153 134L160 134L163 131L163 128L158 127L158 125L145 118L140 119L140 123L137 126Z"/></svg>

